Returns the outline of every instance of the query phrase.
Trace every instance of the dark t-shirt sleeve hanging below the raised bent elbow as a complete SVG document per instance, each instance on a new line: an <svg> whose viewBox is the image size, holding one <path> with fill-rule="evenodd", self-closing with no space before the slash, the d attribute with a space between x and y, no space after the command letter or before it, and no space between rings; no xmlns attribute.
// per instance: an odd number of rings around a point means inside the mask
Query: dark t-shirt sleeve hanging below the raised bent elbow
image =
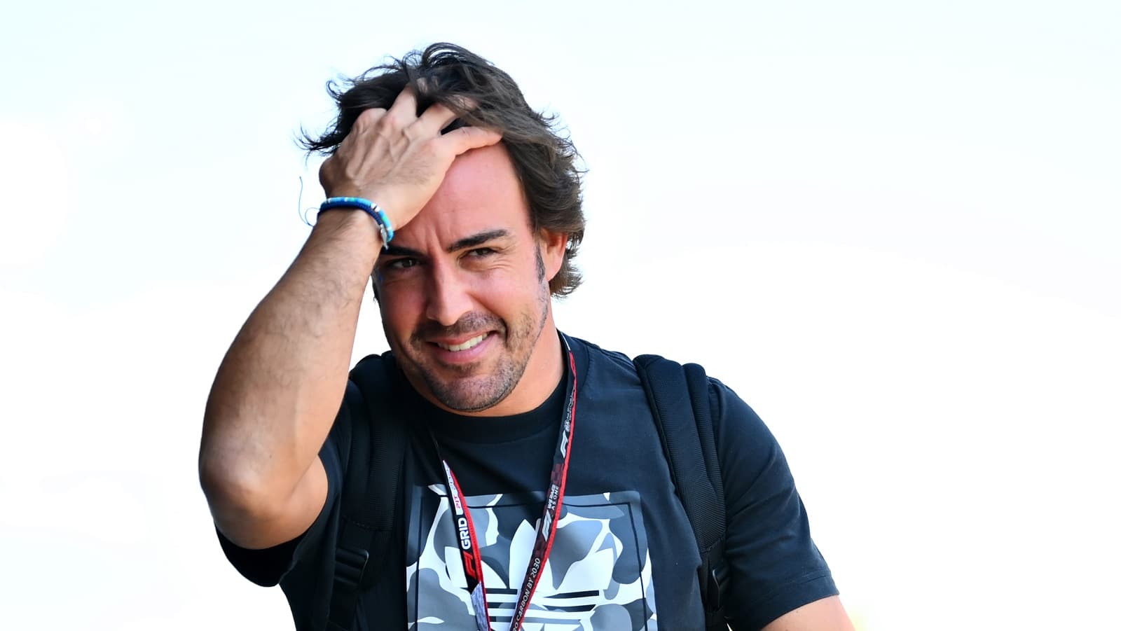
<svg viewBox="0 0 1121 631"><path fill-rule="evenodd" d="M297 565L312 563L324 546L334 546L339 513L336 509L350 452L350 424L355 416L354 410L361 409L361 392L353 383L348 382L346 395L335 416L335 423L319 448L319 460L327 474L327 499L318 517L303 535L271 548L254 550L238 546L215 528L225 558L242 576L258 585L271 587L280 583Z"/></svg>

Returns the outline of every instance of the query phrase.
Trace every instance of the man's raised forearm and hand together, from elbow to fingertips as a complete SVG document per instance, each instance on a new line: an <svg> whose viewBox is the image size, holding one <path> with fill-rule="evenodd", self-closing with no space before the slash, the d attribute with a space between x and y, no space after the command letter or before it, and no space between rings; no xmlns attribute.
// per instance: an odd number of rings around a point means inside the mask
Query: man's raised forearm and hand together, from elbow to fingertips
<svg viewBox="0 0 1121 631"><path fill-rule="evenodd" d="M501 140L479 127L444 133L456 118L441 103L418 114L411 87L389 110L362 111L319 167L324 193L377 201L401 230L456 156ZM381 244L369 214L324 213L219 368L200 476L219 527L235 530L242 542L288 540L323 505L327 480L313 465L346 389L359 307Z"/></svg>

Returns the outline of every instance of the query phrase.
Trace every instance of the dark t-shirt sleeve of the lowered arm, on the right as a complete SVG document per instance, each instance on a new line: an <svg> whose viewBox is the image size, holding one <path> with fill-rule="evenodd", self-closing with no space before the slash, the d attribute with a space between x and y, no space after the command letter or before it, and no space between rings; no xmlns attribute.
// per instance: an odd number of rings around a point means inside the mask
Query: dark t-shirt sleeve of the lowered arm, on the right
<svg viewBox="0 0 1121 631"><path fill-rule="evenodd" d="M721 601L732 629L761 629L837 588L775 436L720 381L711 395L728 507Z"/></svg>

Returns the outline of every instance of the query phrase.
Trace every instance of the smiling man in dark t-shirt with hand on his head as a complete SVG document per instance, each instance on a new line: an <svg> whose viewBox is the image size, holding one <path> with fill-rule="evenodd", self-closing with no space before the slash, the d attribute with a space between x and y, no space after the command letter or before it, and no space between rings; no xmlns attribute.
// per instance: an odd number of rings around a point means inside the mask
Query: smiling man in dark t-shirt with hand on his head
<svg viewBox="0 0 1121 631"><path fill-rule="evenodd" d="M704 628L696 540L636 369L553 321L550 296L580 282L571 143L446 44L335 95L335 124L307 141L330 154L328 202L206 407L200 472L228 558L279 583L298 629L327 628L344 482L370 466L350 438L401 418L391 545L332 628ZM386 400L348 380L371 270ZM730 389L710 396L728 622L851 629L773 438Z"/></svg>

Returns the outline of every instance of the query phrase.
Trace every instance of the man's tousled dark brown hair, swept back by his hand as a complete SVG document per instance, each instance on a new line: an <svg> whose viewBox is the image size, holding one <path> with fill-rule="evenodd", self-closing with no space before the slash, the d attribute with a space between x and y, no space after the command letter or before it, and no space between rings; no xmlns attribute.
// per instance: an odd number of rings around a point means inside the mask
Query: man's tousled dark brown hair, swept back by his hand
<svg viewBox="0 0 1121 631"><path fill-rule="evenodd" d="M433 44L391 58L354 78L327 83L339 106L339 118L315 138L303 132L300 146L311 152L334 154L359 114L372 108L389 109L405 89L413 86L417 112L443 103L460 119L448 130L470 124L502 133L529 204L534 232L545 229L567 234L560 270L549 281L554 296L567 296L581 282L572 259L584 239L578 154L555 126L556 118L534 111L518 84L487 59L454 44ZM465 108L465 103L475 103Z"/></svg>

